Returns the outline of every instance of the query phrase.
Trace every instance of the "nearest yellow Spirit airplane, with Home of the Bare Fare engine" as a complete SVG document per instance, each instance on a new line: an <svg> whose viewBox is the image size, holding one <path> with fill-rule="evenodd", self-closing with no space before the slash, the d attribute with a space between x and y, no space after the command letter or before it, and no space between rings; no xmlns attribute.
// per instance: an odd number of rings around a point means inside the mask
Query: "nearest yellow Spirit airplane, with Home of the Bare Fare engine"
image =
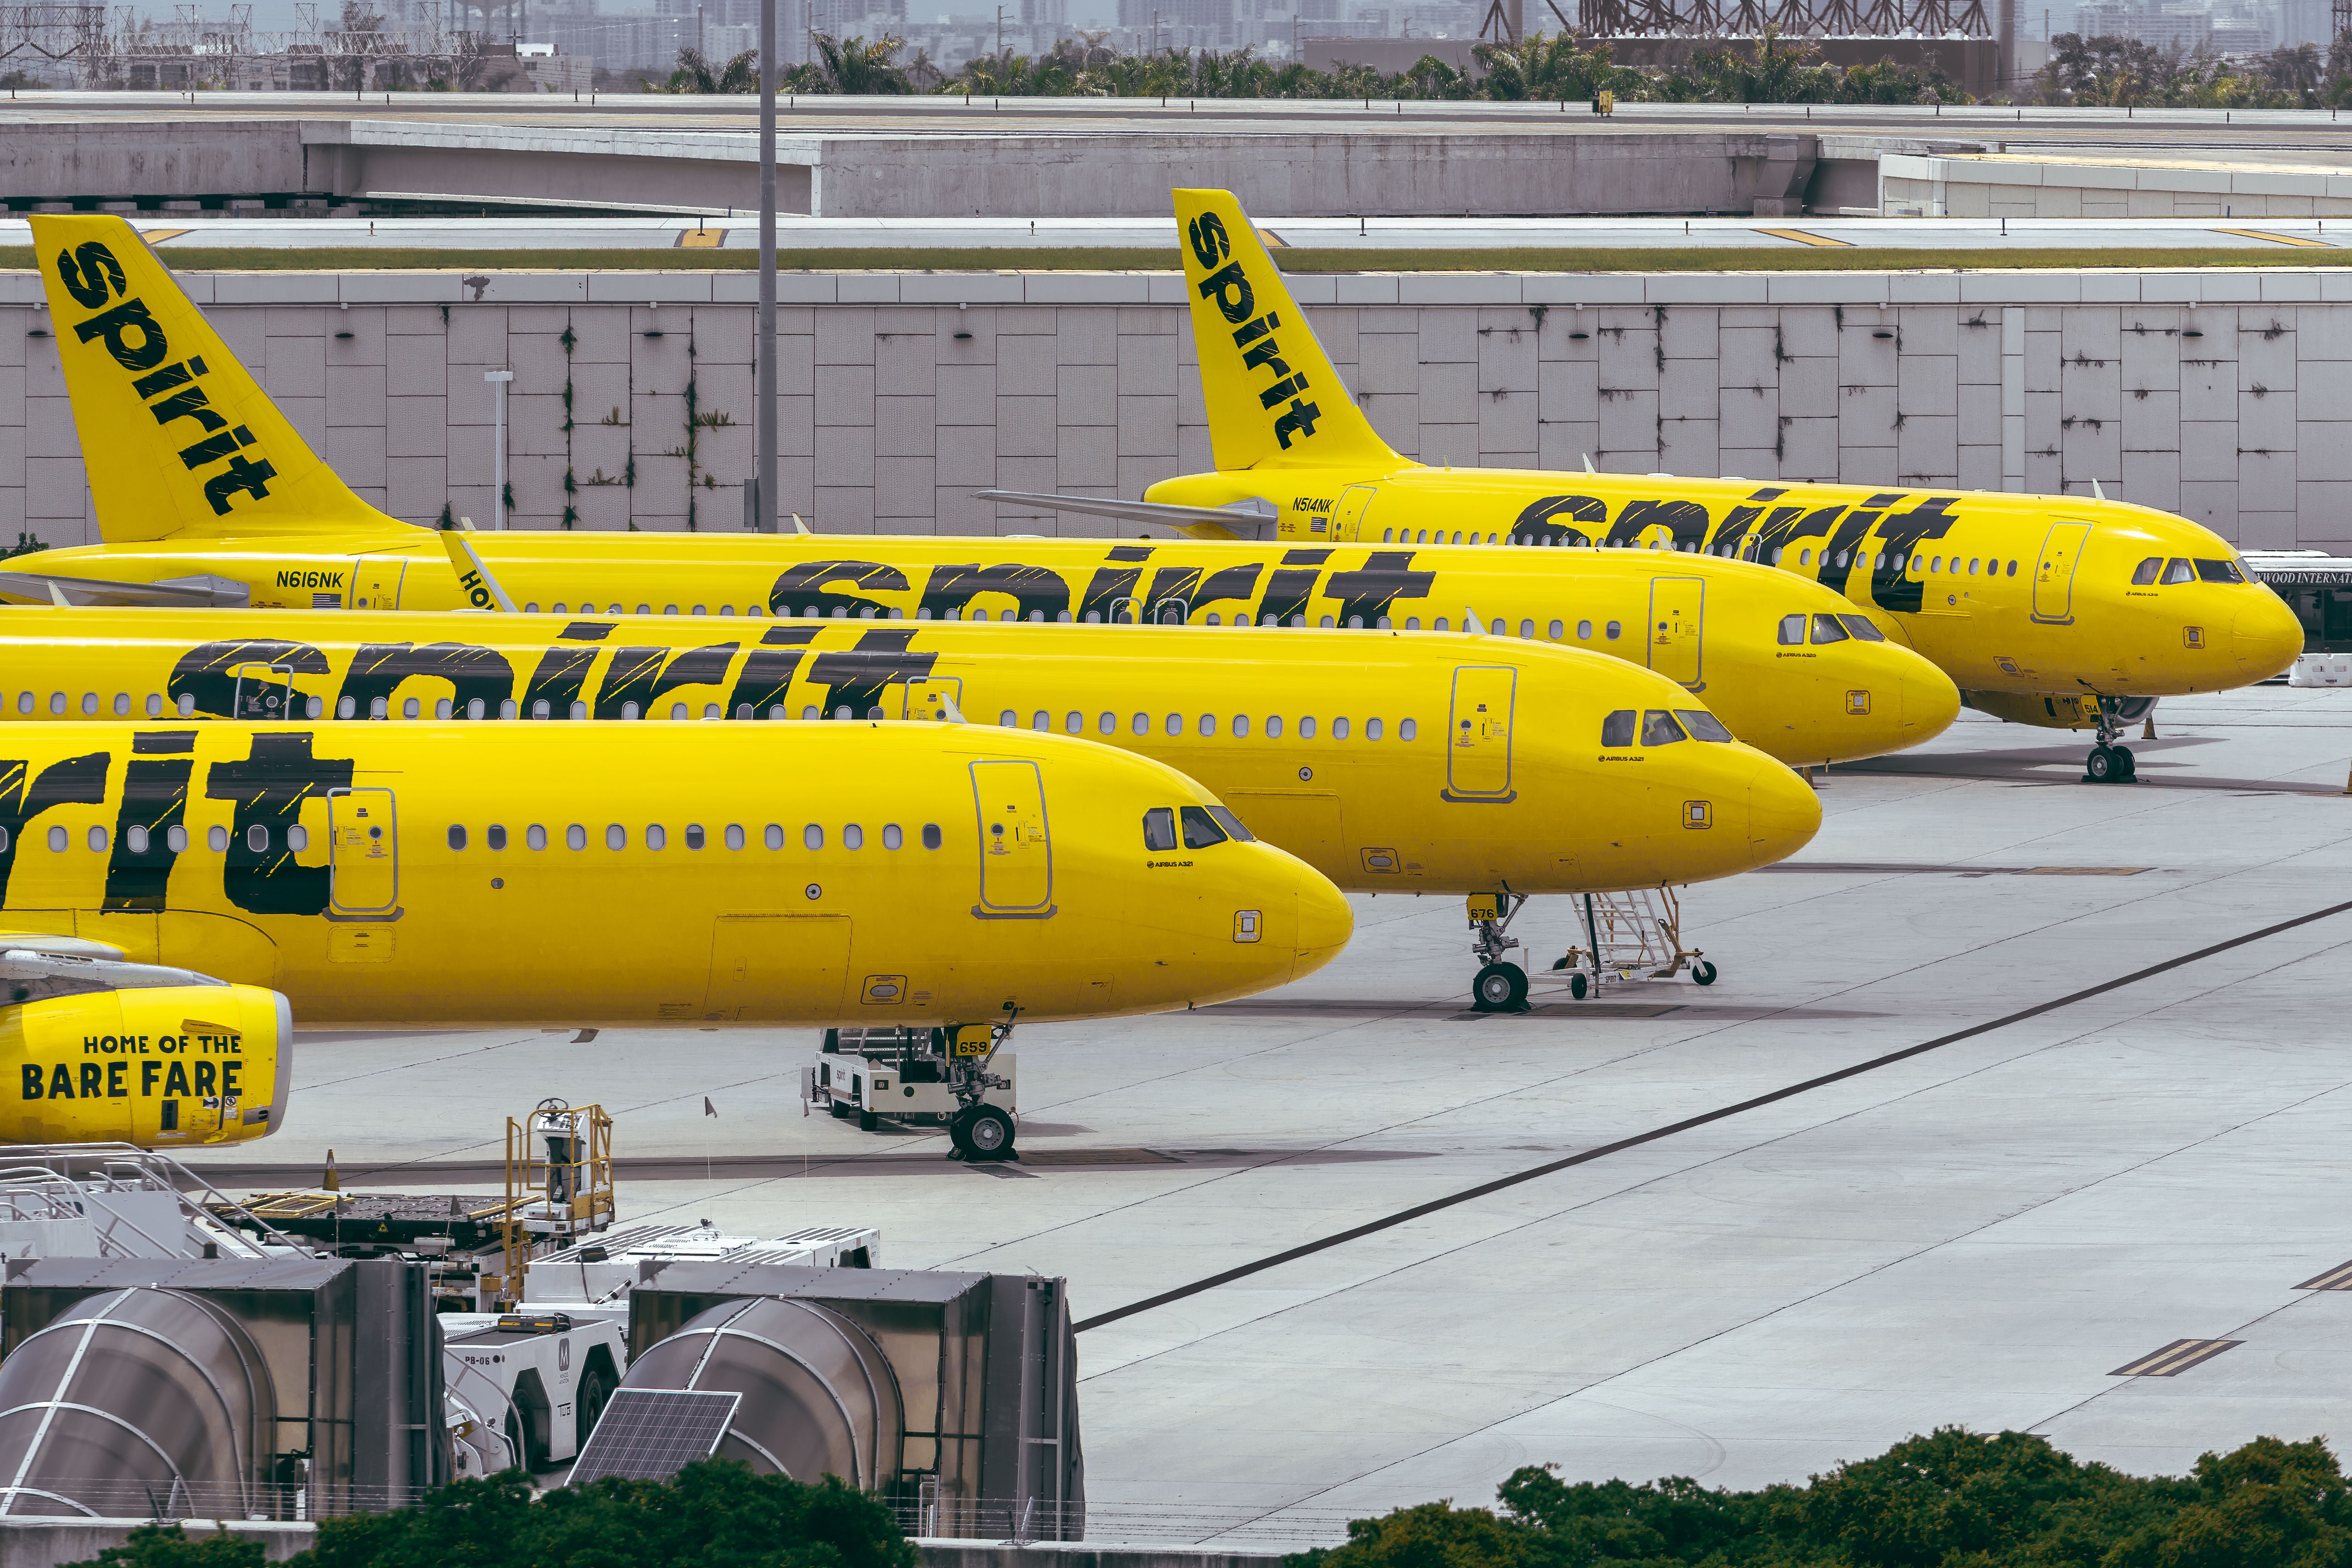
<svg viewBox="0 0 2352 1568"><path fill-rule="evenodd" d="M1162 811L1185 851L1155 846ZM16 726L0 759L12 1138L268 1133L292 1009L936 1025L950 1133L1002 1154L983 1098L1016 1018L1242 997L1350 929L1183 773L974 724L113 719ZM263 1044L233 1077L240 1037Z"/></svg>

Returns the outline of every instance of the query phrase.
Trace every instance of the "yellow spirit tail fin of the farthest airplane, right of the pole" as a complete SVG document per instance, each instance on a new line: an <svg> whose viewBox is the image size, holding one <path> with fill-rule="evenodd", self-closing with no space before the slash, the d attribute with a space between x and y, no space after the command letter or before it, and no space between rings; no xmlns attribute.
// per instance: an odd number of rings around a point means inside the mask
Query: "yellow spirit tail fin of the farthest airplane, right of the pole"
<svg viewBox="0 0 2352 1568"><path fill-rule="evenodd" d="M1315 341L1242 202L1230 190L1178 190L1176 228L1216 465L1399 463Z"/></svg>

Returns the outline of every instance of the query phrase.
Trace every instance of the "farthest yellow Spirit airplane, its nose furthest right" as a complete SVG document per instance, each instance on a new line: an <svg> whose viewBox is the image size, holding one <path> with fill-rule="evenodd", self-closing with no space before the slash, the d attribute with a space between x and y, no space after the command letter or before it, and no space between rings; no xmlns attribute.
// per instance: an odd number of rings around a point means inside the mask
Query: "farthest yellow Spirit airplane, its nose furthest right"
<svg viewBox="0 0 2352 1568"><path fill-rule="evenodd" d="M1844 595L1971 708L2096 729L2098 783L2131 780L2114 738L2152 698L2246 686L2303 651L2293 611L2218 534L2105 496L1414 463L1348 395L1242 205L1178 190L1176 223L1216 473L1141 503L983 496L1315 545L1468 534L1762 562Z"/></svg>

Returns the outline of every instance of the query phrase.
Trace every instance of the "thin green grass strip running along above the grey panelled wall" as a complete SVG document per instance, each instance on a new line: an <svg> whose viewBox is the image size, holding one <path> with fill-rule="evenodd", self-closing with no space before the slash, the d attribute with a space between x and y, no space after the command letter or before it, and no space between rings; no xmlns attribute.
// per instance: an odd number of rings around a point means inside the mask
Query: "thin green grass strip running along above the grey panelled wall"
<svg viewBox="0 0 2352 1568"><path fill-rule="evenodd" d="M1811 244L1503 247L1503 249L1282 249L1284 273L1990 273L2352 266L2310 247L2150 249L1907 249ZM162 247L176 273L734 273L757 252L713 249L230 249ZM1174 273L1174 249L800 249L788 273ZM33 247L0 244L0 270L33 270Z"/></svg>

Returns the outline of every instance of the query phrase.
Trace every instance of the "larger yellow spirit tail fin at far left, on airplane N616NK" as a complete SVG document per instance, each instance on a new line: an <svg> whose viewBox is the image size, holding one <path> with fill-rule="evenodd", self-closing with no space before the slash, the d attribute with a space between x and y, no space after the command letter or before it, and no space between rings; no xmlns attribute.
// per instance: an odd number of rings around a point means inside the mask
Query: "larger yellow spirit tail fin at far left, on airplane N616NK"
<svg viewBox="0 0 2352 1568"><path fill-rule="evenodd" d="M35 216L56 357L108 543L407 527L327 468L118 216Z"/></svg>

